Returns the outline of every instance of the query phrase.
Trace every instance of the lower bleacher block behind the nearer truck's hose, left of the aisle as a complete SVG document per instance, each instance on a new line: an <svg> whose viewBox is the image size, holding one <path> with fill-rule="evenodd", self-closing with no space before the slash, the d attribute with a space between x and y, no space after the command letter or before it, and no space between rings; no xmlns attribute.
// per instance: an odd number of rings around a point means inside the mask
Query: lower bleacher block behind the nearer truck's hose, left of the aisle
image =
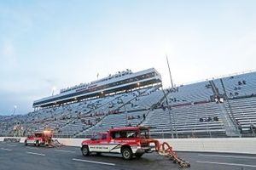
<svg viewBox="0 0 256 170"><path fill-rule="evenodd" d="M151 134L154 136L163 133L178 134L179 137L214 136L216 133L218 136L224 136L225 129L222 120L218 118L218 122L213 121L213 117L220 117L219 114L218 104L214 102L177 106L172 107L171 111L168 109L150 111L143 125L152 127ZM200 118L208 119L209 117L211 121L200 122Z"/></svg>

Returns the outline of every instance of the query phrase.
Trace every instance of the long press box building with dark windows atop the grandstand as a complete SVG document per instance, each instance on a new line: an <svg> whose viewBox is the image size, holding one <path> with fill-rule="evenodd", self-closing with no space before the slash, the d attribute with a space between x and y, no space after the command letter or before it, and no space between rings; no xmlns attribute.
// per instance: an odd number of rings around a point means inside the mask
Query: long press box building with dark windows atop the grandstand
<svg viewBox="0 0 256 170"><path fill-rule="evenodd" d="M36 100L33 107L44 108L65 105L156 83L161 83L161 77L160 73L154 68L136 73L132 73L131 70L119 71L114 75L109 75L94 82L81 83L72 88L61 89L60 94Z"/></svg>

